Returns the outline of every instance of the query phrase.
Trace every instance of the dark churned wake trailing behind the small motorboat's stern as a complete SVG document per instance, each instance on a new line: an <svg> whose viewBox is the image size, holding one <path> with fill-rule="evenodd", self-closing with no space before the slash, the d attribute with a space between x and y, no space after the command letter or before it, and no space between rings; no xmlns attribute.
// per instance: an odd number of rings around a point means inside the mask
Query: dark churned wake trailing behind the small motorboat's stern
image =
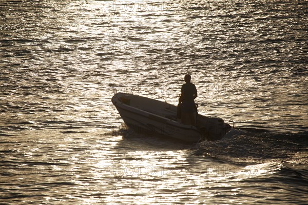
<svg viewBox="0 0 308 205"><path fill-rule="evenodd" d="M308 133L277 133L254 128L232 129L218 141L202 141L196 154L235 164L268 161L308 164Z"/></svg>

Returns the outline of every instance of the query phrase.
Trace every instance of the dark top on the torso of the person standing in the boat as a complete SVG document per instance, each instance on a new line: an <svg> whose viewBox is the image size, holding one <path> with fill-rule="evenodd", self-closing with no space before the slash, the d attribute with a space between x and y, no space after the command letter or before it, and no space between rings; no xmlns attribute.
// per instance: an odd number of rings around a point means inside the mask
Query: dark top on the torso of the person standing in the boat
<svg viewBox="0 0 308 205"><path fill-rule="evenodd" d="M196 86L192 83L185 83L181 88L181 111L182 112L195 112L195 102L197 89Z"/></svg>

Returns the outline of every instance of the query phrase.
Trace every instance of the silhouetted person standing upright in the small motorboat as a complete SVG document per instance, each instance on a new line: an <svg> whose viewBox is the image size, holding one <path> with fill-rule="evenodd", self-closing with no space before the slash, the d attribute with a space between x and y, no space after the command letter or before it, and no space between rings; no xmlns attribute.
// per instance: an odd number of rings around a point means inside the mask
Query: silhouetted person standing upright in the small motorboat
<svg viewBox="0 0 308 205"><path fill-rule="evenodd" d="M179 98L179 105L181 106L181 121L185 125L196 126L194 112L196 111L194 99L198 96L197 89L194 84L190 82L191 76L185 75L185 84L181 88L181 96Z"/></svg>

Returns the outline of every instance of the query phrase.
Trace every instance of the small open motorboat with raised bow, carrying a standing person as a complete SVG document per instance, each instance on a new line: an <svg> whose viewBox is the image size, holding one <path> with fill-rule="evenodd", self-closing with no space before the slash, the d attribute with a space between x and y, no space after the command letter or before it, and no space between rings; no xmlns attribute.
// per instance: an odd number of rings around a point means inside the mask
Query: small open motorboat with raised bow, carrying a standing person
<svg viewBox="0 0 308 205"><path fill-rule="evenodd" d="M177 106L143 96L116 93L112 103L128 127L188 142L221 139L231 126L217 117L197 115L196 126L177 119ZM195 115L196 116L196 115Z"/></svg>

